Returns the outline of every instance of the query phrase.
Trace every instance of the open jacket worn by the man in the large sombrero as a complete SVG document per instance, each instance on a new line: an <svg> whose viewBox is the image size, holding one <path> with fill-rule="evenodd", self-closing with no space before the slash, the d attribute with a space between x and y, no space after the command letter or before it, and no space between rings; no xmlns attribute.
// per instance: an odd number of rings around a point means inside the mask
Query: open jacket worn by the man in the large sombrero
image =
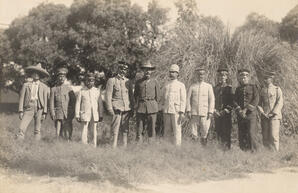
<svg viewBox="0 0 298 193"><path fill-rule="evenodd" d="M27 82L23 85L20 92L19 112L23 112L30 106L32 82ZM48 112L49 87L42 82L38 86L38 101L43 109L43 113Z"/></svg>

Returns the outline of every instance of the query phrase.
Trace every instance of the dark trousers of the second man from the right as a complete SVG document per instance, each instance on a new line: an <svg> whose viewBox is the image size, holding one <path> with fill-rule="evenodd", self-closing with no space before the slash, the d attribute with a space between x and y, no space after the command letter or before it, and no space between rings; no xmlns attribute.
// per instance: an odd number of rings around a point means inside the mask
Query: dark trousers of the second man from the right
<svg viewBox="0 0 298 193"><path fill-rule="evenodd" d="M247 118L238 117L239 146L243 151L258 149L257 117L250 115Z"/></svg>

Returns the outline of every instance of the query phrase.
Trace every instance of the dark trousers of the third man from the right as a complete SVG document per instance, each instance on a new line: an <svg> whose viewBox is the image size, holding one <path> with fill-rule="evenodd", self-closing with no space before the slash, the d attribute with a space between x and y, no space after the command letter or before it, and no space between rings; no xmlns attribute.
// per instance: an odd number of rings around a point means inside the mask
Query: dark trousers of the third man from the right
<svg viewBox="0 0 298 193"><path fill-rule="evenodd" d="M219 143L224 148L230 149L232 131L232 118L230 114L215 118L215 131Z"/></svg>

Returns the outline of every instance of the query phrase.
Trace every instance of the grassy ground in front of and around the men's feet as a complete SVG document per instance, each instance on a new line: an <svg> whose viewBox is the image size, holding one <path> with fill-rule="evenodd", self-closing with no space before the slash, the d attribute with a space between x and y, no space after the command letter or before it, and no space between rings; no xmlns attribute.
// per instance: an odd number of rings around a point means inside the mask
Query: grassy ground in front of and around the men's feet
<svg viewBox="0 0 298 193"><path fill-rule="evenodd" d="M49 117L43 125L42 141L33 140L32 123L26 140L17 141L14 134L19 122L17 114L0 114L0 166L34 176L69 176L82 182L130 187L138 183L220 180L298 166L298 141L294 137L281 138L279 153L266 149L254 154L242 152L237 143L230 151L222 151L215 141L202 148L187 139L181 148L158 140L114 150L102 139L98 148L81 144L78 124L72 142L56 141Z"/></svg>

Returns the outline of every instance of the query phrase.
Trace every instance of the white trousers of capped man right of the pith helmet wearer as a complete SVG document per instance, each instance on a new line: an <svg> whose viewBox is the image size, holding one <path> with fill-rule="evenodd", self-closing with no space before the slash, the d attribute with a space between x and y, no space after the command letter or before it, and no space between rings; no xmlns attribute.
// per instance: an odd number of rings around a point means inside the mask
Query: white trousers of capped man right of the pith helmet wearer
<svg viewBox="0 0 298 193"><path fill-rule="evenodd" d="M200 128L201 138L206 139L210 128L211 119L207 116L192 115L190 119L191 134L198 137L198 126Z"/></svg>

